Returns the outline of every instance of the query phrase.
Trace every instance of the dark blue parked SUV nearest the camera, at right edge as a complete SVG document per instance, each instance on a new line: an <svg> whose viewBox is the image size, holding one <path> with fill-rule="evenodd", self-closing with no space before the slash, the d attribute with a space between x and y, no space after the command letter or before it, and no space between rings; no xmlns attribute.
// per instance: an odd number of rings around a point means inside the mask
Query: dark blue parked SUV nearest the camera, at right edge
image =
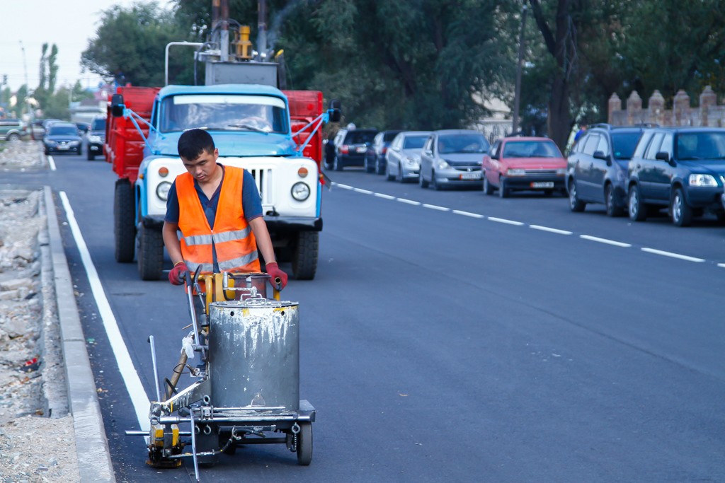
<svg viewBox="0 0 725 483"><path fill-rule="evenodd" d="M725 128L647 129L629 161L629 218L640 222L666 206L679 227L705 211L725 220L724 176Z"/></svg>

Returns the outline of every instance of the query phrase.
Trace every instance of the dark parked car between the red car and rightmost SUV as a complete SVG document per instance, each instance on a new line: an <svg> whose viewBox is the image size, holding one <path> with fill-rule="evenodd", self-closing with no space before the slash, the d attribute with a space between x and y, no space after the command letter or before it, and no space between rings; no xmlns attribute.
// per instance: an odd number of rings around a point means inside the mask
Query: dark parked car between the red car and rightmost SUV
<svg viewBox="0 0 725 483"><path fill-rule="evenodd" d="M571 211L587 203L604 203L610 217L627 206L627 169L645 127L595 125L571 148L566 164L566 187Z"/></svg>

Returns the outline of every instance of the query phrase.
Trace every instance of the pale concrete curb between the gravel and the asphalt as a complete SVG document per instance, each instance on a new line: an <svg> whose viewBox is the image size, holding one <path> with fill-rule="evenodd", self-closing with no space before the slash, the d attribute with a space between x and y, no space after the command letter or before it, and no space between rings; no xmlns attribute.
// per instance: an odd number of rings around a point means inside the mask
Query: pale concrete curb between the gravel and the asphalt
<svg viewBox="0 0 725 483"><path fill-rule="evenodd" d="M96 383L91 371L91 361L88 360L86 339L80 326L70 270L55 214L53 193L49 186L45 186L43 192L61 344L65 358L68 405L73 416L80 482L115 482Z"/></svg>

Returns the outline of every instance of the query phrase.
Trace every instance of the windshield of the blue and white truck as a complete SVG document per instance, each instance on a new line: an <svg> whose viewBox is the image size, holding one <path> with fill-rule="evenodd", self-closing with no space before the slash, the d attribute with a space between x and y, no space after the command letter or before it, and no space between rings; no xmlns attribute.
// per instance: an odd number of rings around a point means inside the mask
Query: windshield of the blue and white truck
<svg viewBox="0 0 725 483"><path fill-rule="evenodd" d="M272 96L241 94L188 94L162 100L159 130L162 133L194 127L221 131L286 133L286 106Z"/></svg>

